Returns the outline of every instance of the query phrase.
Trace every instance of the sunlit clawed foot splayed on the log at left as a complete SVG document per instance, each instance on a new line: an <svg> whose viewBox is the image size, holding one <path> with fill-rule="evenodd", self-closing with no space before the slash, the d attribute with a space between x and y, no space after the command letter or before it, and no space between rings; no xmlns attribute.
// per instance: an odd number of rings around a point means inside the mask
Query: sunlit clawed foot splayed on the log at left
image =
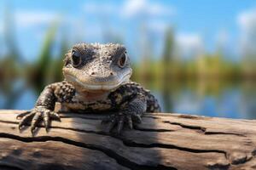
<svg viewBox="0 0 256 170"><path fill-rule="evenodd" d="M36 127L43 121L46 132L49 130L49 121L61 121L60 116L54 111L50 111L44 107L36 107L31 111L20 113L17 117L20 120L19 129L25 125L31 124L31 132L34 133Z"/></svg>

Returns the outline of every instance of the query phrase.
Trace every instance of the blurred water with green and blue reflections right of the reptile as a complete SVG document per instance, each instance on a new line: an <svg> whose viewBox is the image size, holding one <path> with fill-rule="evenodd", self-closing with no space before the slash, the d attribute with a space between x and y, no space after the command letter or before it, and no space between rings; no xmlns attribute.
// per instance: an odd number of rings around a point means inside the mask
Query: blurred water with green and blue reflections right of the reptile
<svg viewBox="0 0 256 170"><path fill-rule="evenodd" d="M154 95L164 112L256 119L256 82L170 82ZM157 86L156 86L157 87Z"/></svg>

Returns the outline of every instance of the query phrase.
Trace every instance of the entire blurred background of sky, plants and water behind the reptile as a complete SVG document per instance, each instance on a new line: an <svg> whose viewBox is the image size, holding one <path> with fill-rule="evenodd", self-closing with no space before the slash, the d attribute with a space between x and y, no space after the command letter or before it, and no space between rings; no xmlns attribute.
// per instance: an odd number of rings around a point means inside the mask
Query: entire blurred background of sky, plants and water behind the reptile
<svg viewBox="0 0 256 170"><path fill-rule="evenodd" d="M119 42L165 112L256 118L255 1L0 1L0 109L31 109L77 42Z"/></svg>

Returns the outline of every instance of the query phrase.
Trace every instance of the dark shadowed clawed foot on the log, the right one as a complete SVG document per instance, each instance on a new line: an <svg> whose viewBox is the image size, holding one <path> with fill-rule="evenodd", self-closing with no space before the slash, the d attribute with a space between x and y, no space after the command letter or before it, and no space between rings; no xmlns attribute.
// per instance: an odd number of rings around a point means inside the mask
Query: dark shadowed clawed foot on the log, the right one
<svg viewBox="0 0 256 170"><path fill-rule="evenodd" d="M126 124L130 129L132 129L134 122L140 123L141 121L142 118L140 115L118 113L108 116L108 118L103 120L102 123L108 123L108 132L111 132L113 130L113 127L117 126L117 133L121 133L124 124Z"/></svg>

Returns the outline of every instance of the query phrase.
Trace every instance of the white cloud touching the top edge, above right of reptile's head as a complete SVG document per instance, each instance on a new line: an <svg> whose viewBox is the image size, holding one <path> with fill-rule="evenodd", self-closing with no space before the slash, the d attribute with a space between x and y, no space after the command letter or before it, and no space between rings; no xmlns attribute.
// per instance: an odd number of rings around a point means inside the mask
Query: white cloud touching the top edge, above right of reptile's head
<svg viewBox="0 0 256 170"><path fill-rule="evenodd" d="M155 15L165 16L174 13L173 8L167 8L160 3L149 3L146 0L126 0L122 7L122 14L126 17L134 17L137 15Z"/></svg>

